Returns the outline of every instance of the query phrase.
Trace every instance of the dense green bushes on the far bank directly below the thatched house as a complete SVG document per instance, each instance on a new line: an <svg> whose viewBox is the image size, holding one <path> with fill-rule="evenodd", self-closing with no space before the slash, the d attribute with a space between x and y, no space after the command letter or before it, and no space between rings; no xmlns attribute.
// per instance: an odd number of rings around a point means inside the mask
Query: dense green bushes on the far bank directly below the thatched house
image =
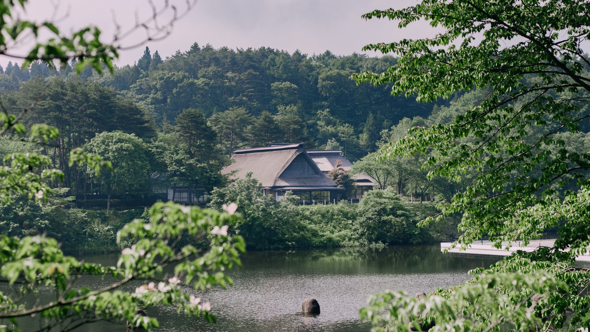
<svg viewBox="0 0 590 332"><path fill-rule="evenodd" d="M407 203L393 190L373 190L359 204L300 206L299 197L286 193L280 201L264 196L261 184L244 179L212 191L210 206L235 202L244 220L234 232L244 236L250 249L309 248L434 242L455 235L457 220L418 227L437 213L435 204Z"/></svg>

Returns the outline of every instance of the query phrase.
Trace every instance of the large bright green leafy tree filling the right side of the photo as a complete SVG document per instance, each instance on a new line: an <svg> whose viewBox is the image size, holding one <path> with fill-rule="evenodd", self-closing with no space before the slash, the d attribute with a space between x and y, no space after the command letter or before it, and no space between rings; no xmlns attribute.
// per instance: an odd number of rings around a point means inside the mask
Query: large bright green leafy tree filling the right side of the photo
<svg viewBox="0 0 590 332"><path fill-rule="evenodd" d="M563 135L581 132L590 116L590 61L583 50L590 4L424 0L404 9L376 10L363 18L396 20L400 28L423 18L444 31L433 38L367 45L365 50L394 53L398 61L385 71L355 75L357 82L391 84L392 94L415 94L423 102L462 91L484 92L480 102L452 121L415 127L380 150L383 158L427 154L423 167L431 178L460 180L476 172L466 190L442 204L442 213L426 223L451 213L463 214L459 226L463 235L455 243L462 247L483 235L490 236L498 248L515 240L528 243L549 227L559 229L553 248L518 252L488 271L477 271L525 273L538 282L535 271L548 271L555 288L536 301L538 306L531 298L540 290L526 278L512 275L486 281L487 277L476 276L474 283L488 282L487 287L509 296L511 304L503 320L486 317L483 307L473 315L464 312L467 316L461 324L457 323L460 318L446 315L442 308L425 315L436 320L437 330L482 330L484 322L496 329L503 322L516 324L517 330L535 324L550 329L563 327L564 313L571 308L569 324L588 328L590 301L578 296L578 291L590 278L573 263L590 244L586 177L590 155L568 148ZM511 280L518 287L503 288ZM435 295L441 295L451 308L451 303L457 303L453 298L468 287L462 289L440 290ZM501 308L497 296L493 307ZM532 314L522 315L522 307L533 308ZM412 319L408 312L389 308L389 322ZM542 317L542 322L536 317Z"/></svg>

